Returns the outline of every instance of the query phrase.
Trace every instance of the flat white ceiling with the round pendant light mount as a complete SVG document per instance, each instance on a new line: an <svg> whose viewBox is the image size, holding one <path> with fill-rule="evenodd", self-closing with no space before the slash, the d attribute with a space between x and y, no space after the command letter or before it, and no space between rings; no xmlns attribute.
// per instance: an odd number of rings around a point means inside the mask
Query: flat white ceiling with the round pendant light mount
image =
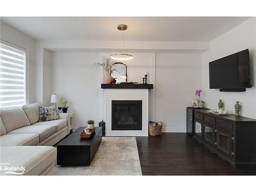
<svg viewBox="0 0 256 192"><path fill-rule="evenodd" d="M210 41L250 17L1 17L35 39Z"/></svg>

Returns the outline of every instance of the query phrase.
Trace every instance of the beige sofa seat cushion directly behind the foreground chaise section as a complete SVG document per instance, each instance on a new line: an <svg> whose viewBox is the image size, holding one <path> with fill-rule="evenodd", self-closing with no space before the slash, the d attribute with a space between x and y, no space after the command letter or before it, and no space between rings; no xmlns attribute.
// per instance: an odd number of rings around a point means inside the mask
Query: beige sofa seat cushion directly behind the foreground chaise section
<svg viewBox="0 0 256 192"><path fill-rule="evenodd" d="M0 146L21 146L39 144L37 134L6 134L0 137Z"/></svg>

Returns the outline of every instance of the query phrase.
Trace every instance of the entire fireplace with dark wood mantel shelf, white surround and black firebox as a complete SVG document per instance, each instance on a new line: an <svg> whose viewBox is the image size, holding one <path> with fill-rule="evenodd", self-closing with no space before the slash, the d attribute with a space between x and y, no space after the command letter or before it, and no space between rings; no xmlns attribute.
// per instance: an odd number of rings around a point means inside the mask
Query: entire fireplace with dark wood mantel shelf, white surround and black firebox
<svg viewBox="0 0 256 192"><path fill-rule="evenodd" d="M148 92L153 84L101 84L106 136L148 136Z"/></svg>

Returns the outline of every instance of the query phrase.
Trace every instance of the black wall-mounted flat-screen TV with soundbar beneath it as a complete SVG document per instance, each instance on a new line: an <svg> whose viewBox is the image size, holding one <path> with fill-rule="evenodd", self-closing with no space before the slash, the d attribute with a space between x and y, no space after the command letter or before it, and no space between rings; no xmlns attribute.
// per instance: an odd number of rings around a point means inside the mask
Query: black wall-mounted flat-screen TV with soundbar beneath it
<svg viewBox="0 0 256 192"><path fill-rule="evenodd" d="M210 89L245 91L251 88L249 50L209 62Z"/></svg>

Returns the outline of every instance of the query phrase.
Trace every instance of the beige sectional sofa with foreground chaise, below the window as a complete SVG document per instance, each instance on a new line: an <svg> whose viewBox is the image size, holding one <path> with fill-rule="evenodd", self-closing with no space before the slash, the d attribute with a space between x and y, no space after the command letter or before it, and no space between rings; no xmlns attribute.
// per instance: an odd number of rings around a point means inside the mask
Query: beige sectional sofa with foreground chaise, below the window
<svg viewBox="0 0 256 192"><path fill-rule="evenodd" d="M38 122L40 103L0 109L0 163L23 166L20 175L51 175L58 141L69 134L68 114L58 120ZM44 146L38 146L44 145ZM16 175L18 175L16 174ZM1 170L0 175L15 175Z"/></svg>

